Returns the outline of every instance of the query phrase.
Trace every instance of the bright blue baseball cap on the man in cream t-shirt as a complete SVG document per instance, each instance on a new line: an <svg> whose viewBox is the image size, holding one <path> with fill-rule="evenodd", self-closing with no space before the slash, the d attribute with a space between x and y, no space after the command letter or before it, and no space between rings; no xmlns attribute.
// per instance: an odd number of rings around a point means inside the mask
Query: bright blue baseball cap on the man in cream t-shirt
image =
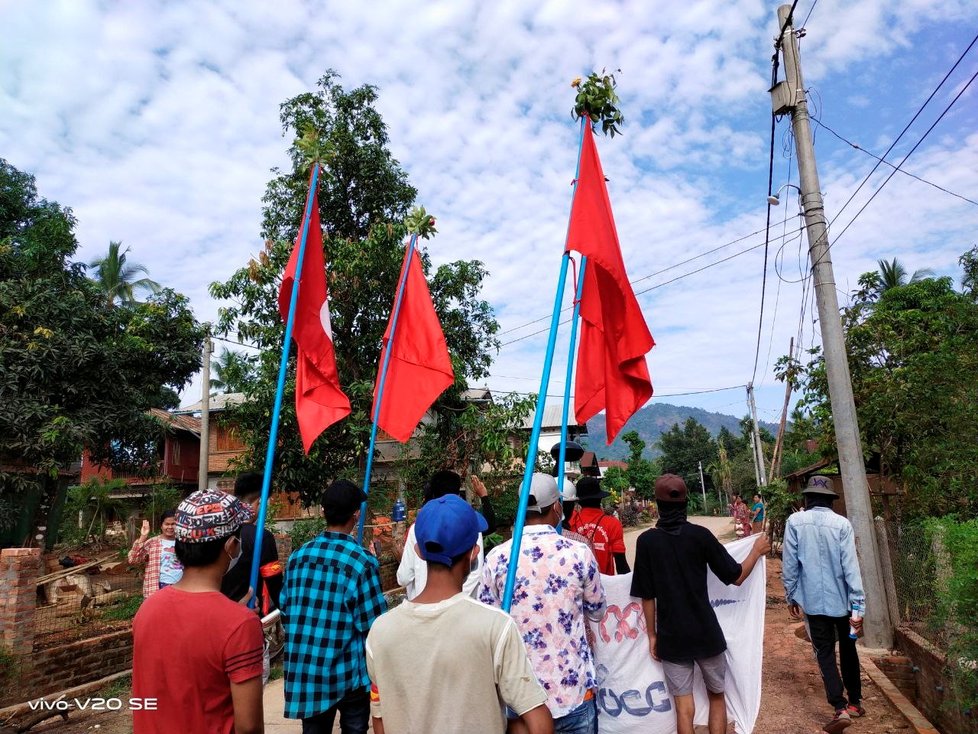
<svg viewBox="0 0 978 734"><path fill-rule="evenodd" d="M452 565L452 559L470 550L489 525L457 494L425 503L414 521L414 537L426 561Z"/></svg>

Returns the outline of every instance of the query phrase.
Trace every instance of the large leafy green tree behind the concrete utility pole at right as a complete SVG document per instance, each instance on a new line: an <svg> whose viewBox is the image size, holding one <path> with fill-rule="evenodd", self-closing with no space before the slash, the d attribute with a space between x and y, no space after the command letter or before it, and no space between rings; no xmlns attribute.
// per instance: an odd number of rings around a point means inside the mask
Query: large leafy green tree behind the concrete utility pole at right
<svg viewBox="0 0 978 734"><path fill-rule="evenodd" d="M863 446L901 480L913 514L978 514L978 304L950 278L872 292L843 313ZM870 286L870 287L867 287ZM831 430L824 361L809 365L805 407ZM825 441L825 443L830 443Z"/></svg>

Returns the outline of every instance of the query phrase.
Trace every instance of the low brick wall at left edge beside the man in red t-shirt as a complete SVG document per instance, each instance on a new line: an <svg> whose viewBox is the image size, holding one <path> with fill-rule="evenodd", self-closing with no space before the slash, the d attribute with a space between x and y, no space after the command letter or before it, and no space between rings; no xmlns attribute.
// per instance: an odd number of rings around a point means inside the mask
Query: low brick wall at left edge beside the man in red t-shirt
<svg viewBox="0 0 978 734"><path fill-rule="evenodd" d="M19 685L0 707L47 696L132 667L132 632L122 630L21 657Z"/></svg>

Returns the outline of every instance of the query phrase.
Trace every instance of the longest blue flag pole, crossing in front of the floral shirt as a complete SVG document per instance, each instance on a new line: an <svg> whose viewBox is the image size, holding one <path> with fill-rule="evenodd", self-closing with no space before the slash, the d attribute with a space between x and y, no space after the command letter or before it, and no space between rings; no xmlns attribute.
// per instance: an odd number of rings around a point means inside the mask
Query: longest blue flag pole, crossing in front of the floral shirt
<svg viewBox="0 0 978 734"><path fill-rule="evenodd" d="M588 118L582 117L581 140L577 147L577 172L574 174L574 193L577 193L577 179L581 175L581 151L584 147L586 124L588 124ZM571 211L573 212L573 210L574 197L572 195ZM567 234L568 236L570 235L569 222ZM550 385L550 369L553 367L554 361L554 346L557 344L557 327L560 325L561 304L564 301L564 284L567 280L567 265L570 263L570 253L567 252L566 244L565 238L564 256L560 261L560 276L557 280L557 294L554 297L554 310L553 315L550 317L550 335L547 337L547 354L543 360L543 375L540 377L540 392L537 395L537 411L533 417L530 445L526 451L526 468L523 470L523 484L520 486L520 501L516 509L516 522L513 524L513 544L510 548L509 568L506 571L506 587L503 591L503 611L507 613L513 605L513 591L516 587L516 569L519 565L520 544L523 542L523 527L526 525L526 505L530 499L530 480L533 478L533 467L536 464L537 445L540 442L540 428L543 425L543 413L547 403L547 388ZM570 389L569 385L567 389Z"/></svg>

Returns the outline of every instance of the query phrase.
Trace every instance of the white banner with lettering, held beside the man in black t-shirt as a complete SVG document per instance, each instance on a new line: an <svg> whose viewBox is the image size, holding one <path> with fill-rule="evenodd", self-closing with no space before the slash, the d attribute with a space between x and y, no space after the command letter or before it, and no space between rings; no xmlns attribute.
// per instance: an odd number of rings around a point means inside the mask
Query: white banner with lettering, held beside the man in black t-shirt
<svg viewBox="0 0 978 734"><path fill-rule="evenodd" d="M742 561L755 538L725 547ZM761 707L761 657L767 567L758 561L741 586L726 586L708 572L712 604L727 638L727 715L737 734L750 734ZM598 730L601 734L672 734L676 713L662 664L649 655L642 600L629 593L632 575L602 576L608 611L592 623L598 672ZM697 725L706 726L708 702L699 669L693 689Z"/></svg>

